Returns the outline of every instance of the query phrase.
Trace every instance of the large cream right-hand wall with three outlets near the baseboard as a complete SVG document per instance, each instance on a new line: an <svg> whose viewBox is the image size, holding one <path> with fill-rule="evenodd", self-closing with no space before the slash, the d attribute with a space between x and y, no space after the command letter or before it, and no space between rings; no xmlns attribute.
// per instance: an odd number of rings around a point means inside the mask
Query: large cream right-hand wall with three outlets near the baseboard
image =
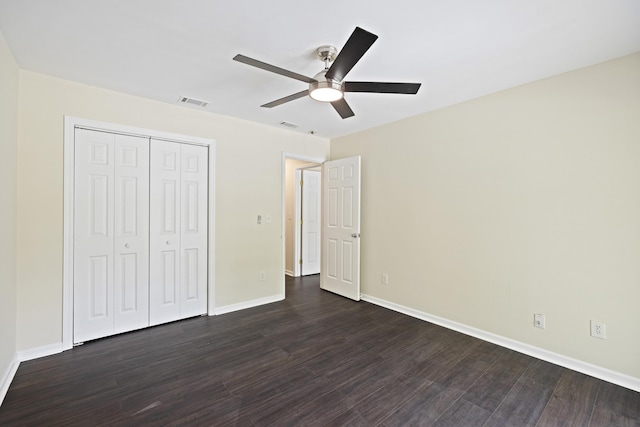
<svg viewBox="0 0 640 427"><path fill-rule="evenodd" d="M640 378L640 54L331 141L358 154L363 293Z"/></svg>

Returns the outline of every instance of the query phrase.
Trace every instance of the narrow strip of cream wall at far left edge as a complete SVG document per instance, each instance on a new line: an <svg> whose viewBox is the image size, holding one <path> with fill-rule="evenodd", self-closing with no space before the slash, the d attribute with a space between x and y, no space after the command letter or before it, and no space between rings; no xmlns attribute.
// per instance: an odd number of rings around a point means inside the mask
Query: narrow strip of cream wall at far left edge
<svg viewBox="0 0 640 427"><path fill-rule="evenodd" d="M0 387L16 354L18 76L0 32Z"/></svg>

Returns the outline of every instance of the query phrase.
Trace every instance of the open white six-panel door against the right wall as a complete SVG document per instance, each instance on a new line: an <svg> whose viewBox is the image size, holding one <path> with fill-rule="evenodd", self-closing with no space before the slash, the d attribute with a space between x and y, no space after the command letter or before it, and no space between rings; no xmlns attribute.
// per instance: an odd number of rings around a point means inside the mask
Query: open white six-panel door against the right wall
<svg viewBox="0 0 640 427"><path fill-rule="evenodd" d="M320 287L360 300L360 156L322 166Z"/></svg>

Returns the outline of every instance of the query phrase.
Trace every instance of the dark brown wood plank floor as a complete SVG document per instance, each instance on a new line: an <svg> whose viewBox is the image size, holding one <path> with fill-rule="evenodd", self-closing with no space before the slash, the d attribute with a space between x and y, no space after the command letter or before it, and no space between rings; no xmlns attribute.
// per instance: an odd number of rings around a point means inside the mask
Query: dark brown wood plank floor
<svg viewBox="0 0 640 427"><path fill-rule="evenodd" d="M640 426L640 393L311 276L286 301L25 362L0 425Z"/></svg>

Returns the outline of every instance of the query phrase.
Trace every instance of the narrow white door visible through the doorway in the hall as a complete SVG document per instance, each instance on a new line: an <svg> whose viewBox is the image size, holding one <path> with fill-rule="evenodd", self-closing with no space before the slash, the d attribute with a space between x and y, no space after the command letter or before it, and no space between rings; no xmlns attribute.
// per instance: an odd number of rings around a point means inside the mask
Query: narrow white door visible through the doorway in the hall
<svg viewBox="0 0 640 427"><path fill-rule="evenodd" d="M320 273L322 173L302 170L301 275Z"/></svg>

